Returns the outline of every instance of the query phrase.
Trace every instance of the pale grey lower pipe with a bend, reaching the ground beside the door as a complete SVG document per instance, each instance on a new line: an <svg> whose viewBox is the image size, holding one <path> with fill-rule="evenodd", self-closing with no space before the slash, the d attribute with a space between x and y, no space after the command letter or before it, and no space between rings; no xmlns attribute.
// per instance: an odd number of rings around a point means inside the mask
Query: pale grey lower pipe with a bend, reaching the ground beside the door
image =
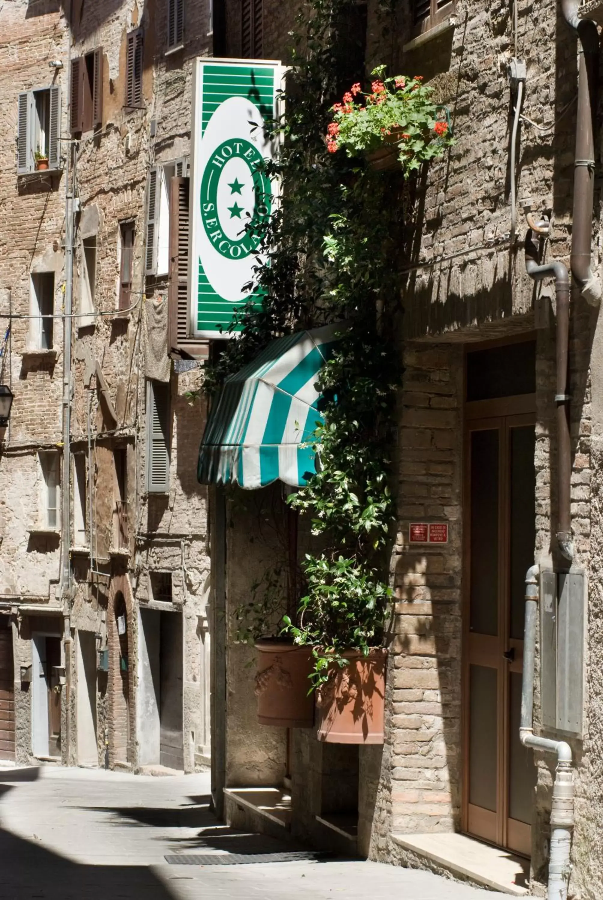
<svg viewBox="0 0 603 900"><path fill-rule="evenodd" d="M557 754L557 769L551 806L551 851L547 900L567 900L570 881L571 832L573 829L573 771L571 747L534 734L534 659L538 624L538 576L533 565L525 574L524 668L521 686L519 740L525 747Z"/></svg>

